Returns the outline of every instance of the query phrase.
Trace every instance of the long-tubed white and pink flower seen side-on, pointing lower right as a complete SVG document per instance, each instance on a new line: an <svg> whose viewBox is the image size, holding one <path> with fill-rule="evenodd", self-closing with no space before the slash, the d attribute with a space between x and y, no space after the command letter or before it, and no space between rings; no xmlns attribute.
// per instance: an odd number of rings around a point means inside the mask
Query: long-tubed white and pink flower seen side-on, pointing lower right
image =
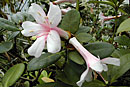
<svg viewBox="0 0 130 87"><path fill-rule="evenodd" d="M113 64L116 66L120 66L120 60L117 58L104 58L100 60L99 58L92 55L89 51L87 51L75 37L69 40L69 43L72 44L78 52L83 56L87 69L82 73L80 80L77 82L79 87L82 86L83 82L92 80L92 70L101 73L103 70L107 71L108 67L106 64Z"/></svg>

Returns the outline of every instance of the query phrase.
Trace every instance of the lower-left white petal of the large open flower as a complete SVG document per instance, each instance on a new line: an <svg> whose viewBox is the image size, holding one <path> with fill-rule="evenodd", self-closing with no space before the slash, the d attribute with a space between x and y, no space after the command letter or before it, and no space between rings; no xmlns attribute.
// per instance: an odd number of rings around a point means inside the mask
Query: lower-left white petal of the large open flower
<svg viewBox="0 0 130 87"><path fill-rule="evenodd" d="M37 40L28 49L29 55L35 56L36 58L41 56L42 50L44 49L44 46L45 46L45 37L46 36L37 38Z"/></svg>

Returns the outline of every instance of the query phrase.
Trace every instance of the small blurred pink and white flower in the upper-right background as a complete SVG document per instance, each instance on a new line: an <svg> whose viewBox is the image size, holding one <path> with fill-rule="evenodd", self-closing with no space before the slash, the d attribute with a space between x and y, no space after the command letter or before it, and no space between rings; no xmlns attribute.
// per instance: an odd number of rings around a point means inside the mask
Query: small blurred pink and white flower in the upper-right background
<svg viewBox="0 0 130 87"><path fill-rule="evenodd" d="M120 16L121 15L118 15L117 17L120 17ZM116 16L108 16L108 17L106 17L106 16L104 16L104 14L102 12L100 12L100 14L99 14L99 19L100 19L102 28L104 27L104 22L105 21L115 19L115 18L116 18Z"/></svg>

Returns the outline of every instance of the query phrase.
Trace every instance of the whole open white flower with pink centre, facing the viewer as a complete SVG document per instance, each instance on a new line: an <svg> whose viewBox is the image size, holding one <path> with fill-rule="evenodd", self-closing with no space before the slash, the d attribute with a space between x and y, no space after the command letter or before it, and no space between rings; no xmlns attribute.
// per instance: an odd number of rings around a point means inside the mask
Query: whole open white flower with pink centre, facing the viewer
<svg viewBox="0 0 130 87"><path fill-rule="evenodd" d="M24 36L36 36L36 41L28 49L29 55L40 57L47 42L47 50L56 53L61 49L60 36L69 38L68 33L56 27L61 21L61 10L58 6L50 3L50 9L46 15L43 9L33 3L29 7L29 13L35 18L37 23L25 21L22 24Z"/></svg>

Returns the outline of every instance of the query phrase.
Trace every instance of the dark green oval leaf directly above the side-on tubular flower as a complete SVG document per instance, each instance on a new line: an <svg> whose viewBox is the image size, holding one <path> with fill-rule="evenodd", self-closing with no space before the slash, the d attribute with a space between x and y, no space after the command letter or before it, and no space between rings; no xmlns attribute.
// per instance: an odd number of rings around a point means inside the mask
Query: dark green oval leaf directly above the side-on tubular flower
<svg viewBox="0 0 130 87"><path fill-rule="evenodd" d="M92 54L99 56L100 58L108 57L114 51L114 46L106 42L96 42L85 45Z"/></svg>

